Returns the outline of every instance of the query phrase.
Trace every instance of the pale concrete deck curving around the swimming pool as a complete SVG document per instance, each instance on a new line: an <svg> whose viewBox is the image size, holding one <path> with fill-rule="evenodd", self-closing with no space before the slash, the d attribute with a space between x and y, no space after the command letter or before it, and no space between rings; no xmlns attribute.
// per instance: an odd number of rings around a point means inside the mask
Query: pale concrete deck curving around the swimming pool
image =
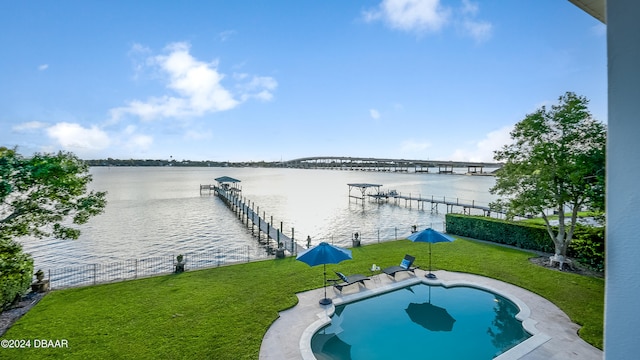
<svg viewBox="0 0 640 360"><path fill-rule="evenodd" d="M514 301L525 317L525 327L533 327L533 336L496 359L499 360L596 360L602 359L601 350L591 346L578 336L579 325L557 306L545 298L528 290L502 281L464 273L434 271L437 279L425 278L425 272L416 270L415 275L399 273L397 279L378 274L367 281L367 286L350 285L342 294L333 287L327 288L327 297L334 304L387 292L418 282L427 284L470 285L484 288ZM318 301L324 297L324 290L316 289L297 294L298 304L280 312L280 317L271 325L260 347L260 359L314 359L309 340L315 329L322 326L333 314L334 305L322 306ZM531 331L530 331L531 332Z"/></svg>

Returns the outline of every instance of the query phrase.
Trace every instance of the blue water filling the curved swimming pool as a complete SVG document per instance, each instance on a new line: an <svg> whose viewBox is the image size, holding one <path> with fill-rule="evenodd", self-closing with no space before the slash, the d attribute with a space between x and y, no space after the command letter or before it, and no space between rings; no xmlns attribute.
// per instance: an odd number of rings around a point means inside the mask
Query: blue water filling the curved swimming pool
<svg viewBox="0 0 640 360"><path fill-rule="evenodd" d="M320 360L492 359L530 336L518 312L488 291L418 284L336 306L311 349Z"/></svg>

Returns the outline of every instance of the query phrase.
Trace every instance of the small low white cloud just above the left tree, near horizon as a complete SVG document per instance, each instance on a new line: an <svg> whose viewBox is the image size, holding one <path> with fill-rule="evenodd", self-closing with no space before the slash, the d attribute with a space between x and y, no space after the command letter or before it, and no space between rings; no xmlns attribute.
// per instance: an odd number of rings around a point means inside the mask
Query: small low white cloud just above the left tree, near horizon
<svg viewBox="0 0 640 360"><path fill-rule="evenodd" d="M65 150L102 150L111 140L104 131L95 125L91 128L79 124L61 122L47 129L47 135L57 141Z"/></svg>

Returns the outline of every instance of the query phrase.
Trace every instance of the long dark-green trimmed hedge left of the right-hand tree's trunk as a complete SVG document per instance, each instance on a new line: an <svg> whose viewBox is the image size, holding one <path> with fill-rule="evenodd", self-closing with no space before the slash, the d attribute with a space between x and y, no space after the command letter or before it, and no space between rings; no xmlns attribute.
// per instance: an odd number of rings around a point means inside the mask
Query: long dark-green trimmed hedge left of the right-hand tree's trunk
<svg viewBox="0 0 640 360"><path fill-rule="evenodd" d="M544 226L521 224L486 216L446 215L447 233L466 236L522 249L552 253L555 245Z"/></svg>

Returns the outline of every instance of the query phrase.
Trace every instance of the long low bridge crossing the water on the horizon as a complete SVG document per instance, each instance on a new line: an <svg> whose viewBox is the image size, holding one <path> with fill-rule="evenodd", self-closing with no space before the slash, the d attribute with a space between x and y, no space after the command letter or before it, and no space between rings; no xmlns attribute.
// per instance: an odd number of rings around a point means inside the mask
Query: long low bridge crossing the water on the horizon
<svg viewBox="0 0 640 360"><path fill-rule="evenodd" d="M490 175L485 168L495 171L502 167L501 163L472 161L441 160L407 160L361 158L347 156L314 156L283 161L282 166L301 169L334 169L390 172L435 172L438 174L454 174L453 169L466 169L466 174ZM430 170L431 169L431 170Z"/></svg>

